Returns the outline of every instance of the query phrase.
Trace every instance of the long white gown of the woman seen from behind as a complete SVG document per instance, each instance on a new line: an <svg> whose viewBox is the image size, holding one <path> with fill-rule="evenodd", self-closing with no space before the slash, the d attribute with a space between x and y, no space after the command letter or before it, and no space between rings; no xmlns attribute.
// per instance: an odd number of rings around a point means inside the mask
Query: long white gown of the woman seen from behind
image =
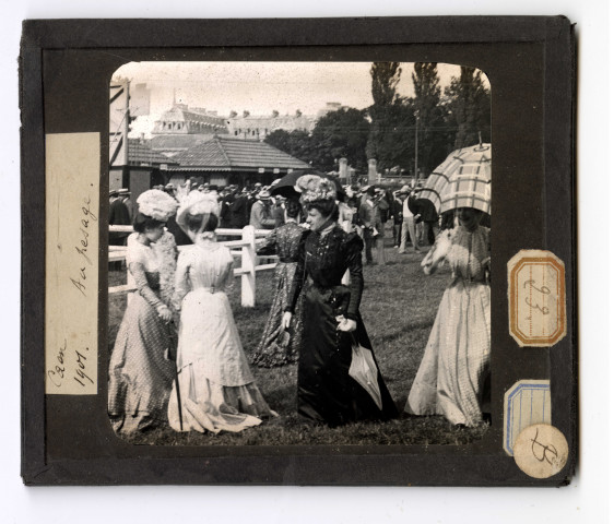
<svg viewBox="0 0 614 524"><path fill-rule="evenodd" d="M177 261L175 307L180 308L177 369L184 431L241 431L276 416L253 381L226 285L231 251L214 241L186 247ZM176 385L168 420L181 430Z"/></svg>

